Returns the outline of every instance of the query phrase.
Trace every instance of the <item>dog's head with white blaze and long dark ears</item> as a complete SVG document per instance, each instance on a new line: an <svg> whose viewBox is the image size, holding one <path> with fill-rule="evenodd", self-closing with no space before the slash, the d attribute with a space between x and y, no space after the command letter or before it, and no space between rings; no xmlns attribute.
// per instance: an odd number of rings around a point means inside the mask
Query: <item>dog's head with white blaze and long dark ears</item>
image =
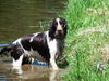
<svg viewBox="0 0 109 81"><path fill-rule="evenodd" d="M64 39L66 36L66 21L64 18L55 18L49 29L49 36L56 39Z"/></svg>

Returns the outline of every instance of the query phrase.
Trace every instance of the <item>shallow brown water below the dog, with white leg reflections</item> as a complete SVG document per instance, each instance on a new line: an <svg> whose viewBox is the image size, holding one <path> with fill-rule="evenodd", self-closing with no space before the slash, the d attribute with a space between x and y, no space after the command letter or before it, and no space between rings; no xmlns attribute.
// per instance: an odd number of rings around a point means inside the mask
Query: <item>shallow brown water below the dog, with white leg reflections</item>
<svg viewBox="0 0 109 81"><path fill-rule="evenodd" d="M63 70L53 70L36 65L13 67L11 62L0 60L0 80L4 81L60 81L59 76Z"/></svg>

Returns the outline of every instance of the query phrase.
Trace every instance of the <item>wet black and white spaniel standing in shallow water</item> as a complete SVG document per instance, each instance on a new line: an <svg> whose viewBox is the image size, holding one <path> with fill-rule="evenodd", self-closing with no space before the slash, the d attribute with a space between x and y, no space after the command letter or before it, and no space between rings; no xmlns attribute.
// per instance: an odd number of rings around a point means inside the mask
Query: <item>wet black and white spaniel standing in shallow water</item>
<svg viewBox="0 0 109 81"><path fill-rule="evenodd" d="M19 38L11 45L3 48L0 54L10 52L13 66L31 64L37 56L41 56L53 69L58 69L56 59L63 51L66 30L66 21L55 18L48 31Z"/></svg>

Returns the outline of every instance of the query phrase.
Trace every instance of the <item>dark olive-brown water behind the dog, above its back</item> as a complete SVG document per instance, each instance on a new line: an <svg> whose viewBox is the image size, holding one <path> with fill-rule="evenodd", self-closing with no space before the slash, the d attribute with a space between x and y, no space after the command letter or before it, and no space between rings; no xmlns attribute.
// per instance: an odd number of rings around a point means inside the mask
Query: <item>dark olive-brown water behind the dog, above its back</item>
<svg viewBox="0 0 109 81"><path fill-rule="evenodd" d="M66 0L0 0L0 42L43 31L44 23L57 17ZM43 24L41 24L43 23Z"/></svg>

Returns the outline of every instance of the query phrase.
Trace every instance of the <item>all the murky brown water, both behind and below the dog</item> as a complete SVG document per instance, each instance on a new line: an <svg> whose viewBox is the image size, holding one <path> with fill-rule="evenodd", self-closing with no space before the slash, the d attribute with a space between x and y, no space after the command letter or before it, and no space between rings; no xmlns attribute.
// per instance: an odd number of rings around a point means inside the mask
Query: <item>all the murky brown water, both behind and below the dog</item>
<svg viewBox="0 0 109 81"><path fill-rule="evenodd" d="M0 0L0 44L47 30L66 0ZM11 57L0 57L0 81L59 81L60 71L35 65L13 69Z"/></svg>

